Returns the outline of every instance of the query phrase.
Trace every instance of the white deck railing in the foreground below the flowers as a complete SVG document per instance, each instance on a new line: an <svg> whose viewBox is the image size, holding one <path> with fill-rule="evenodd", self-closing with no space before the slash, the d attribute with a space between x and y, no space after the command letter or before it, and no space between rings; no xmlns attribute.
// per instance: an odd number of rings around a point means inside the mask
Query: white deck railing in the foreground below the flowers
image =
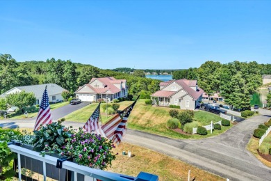
<svg viewBox="0 0 271 181"><path fill-rule="evenodd" d="M45 155L42 157L39 152L35 152L33 150L29 150L26 148L22 148L21 146L10 144L8 145L11 151L17 153L17 163L18 163L18 176L19 180L22 180L22 157L29 157L31 159L38 160L38 162L42 162L42 175L44 181L47 178L47 165L51 164L52 166L56 166L58 162L57 157L52 157L49 155ZM32 163L32 162L31 162ZM34 166L31 166L35 167ZM108 171L101 171L96 168L90 168L87 166L81 166L74 162L64 161L62 163L61 169L66 169L67 171L72 171L74 181L77 180L118 180L118 181L131 181L131 180L149 180L149 181L156 181L158 180L157 175L152 175L149 173L140 172L136 178L129 176L129 175L121 175L118 173L111 173ZM79 179L79 175L81 178ZM95 178L95 179L94 179Z"/></svg>

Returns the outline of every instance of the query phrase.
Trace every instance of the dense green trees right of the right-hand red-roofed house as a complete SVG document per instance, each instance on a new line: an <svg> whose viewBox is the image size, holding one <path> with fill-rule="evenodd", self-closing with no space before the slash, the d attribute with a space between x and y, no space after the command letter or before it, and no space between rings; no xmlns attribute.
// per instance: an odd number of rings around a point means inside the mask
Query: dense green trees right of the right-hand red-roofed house
<svg viewBox="0 0 271 181"><path fill-rule="evenodd" d="M262 74L271 74L271 64L206 61L199 68L173 72L173 79L197 79L206 94L220 92L231 107L249 109L251 96L263 84Z"/></svg>

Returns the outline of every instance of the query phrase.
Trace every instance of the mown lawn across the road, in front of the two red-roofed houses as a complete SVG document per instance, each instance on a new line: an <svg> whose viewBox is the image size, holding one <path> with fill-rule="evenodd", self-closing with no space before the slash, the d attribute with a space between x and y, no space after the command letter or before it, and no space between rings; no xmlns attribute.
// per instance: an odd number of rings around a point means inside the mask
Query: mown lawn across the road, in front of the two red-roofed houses
<svg viewBox="0 0 271 181"><path fill-rule="evenodd" d="M124 101L120 102L120 110L129 106L132 101ZM105 103L104 103L105 104ZM65 116L67 121L75 121L79 123L85 123L93 111L96 109L97 103L90 104L82 109L74 111L69 115ZM167 137L171 137L174 139L201 139L209 136L215 136L217 134L221 134L226 131L230 127L222 126L221 130L215 130L213 134L207 134L206 136L199 136L197 134L194 135L183 135L178 132L174 132L171 129L167 129L166 122L170 117L168 111L170 108L165 107L151 107L151 105L146 105L145 100L138 100L136 103L136 107L133 109L129 116L128 127L130 129L137 129L143 132L150 132L153 134L159 134ZM183 110L179 110L183 111ZM110 118L106 118L106 113L104 113L101 109L101 123L106 123ZM217 122L222 120L220 116L217 116L213 113L208 113L206 111L195 111L195 120L202 123L202 125L208 125L213 122Z"/></svg>

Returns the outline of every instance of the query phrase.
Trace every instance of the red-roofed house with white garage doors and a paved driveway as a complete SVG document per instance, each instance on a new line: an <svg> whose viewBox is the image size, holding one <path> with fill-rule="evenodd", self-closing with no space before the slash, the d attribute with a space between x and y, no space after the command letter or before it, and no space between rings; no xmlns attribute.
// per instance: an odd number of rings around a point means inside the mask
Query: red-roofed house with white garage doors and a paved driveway
<svg viewBox="0 0 271 181"><path fill-rule="evenodd" d="M99 99L112 101L113 99L127 97L128 89L125 79L115 79L114 77L92 78L75 91L76 98L82 101L98 101Z"/></svg>

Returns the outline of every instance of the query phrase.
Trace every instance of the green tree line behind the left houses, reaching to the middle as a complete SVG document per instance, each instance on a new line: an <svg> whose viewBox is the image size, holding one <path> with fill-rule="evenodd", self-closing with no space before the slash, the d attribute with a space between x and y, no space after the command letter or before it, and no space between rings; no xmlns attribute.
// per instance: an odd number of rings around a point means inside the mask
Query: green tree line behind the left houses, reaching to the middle
<svg viewBox="0 0 271 181"><path fill-rule="evenodd" d="M139 93L150 95L158 91L160 82L142 77L140 71L138 74L124 74L55 58L47 59L47 61L17 62L8 54L0 54L0 93L5 93L15 86L48 83L58 84L73 93L79 86L88 84L92 77L126 79L131 95Z"/></svg>

